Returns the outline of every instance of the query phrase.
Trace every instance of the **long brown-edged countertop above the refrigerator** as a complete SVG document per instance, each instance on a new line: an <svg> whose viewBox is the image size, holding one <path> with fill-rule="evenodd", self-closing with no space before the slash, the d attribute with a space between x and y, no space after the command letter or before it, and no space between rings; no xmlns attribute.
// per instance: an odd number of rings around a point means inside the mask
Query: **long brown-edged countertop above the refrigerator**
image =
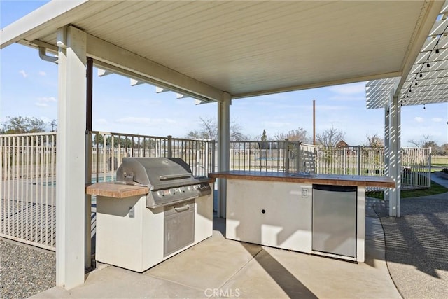
<svg viewBox="0 0 448 299"><path fill-rule="evenodd" d="M284 172L254 172L232 170L228 172L213 172L213 179L243 179L252 181L281 181L288 183L316 183L335 186L384 187L395 188L395 181L386 176L351 176L344 174L311 174L301 175Z"/></svg>

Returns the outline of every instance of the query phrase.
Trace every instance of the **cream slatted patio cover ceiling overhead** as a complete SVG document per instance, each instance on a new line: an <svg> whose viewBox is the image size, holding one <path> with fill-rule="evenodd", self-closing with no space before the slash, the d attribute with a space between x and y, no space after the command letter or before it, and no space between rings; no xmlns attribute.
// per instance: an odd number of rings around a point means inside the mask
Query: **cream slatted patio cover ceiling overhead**
<svg viewBox="0 0 448 299"><path fill-rule="evenodd" d="M0 48L18 42L57 50L57 29L71 25L183 79L248 97L400 77L409 70L412 77L443 4L52 1L1 29ZM446 48L446 36L442 43ZM179 82L173 85L179 90Z"/></svg>

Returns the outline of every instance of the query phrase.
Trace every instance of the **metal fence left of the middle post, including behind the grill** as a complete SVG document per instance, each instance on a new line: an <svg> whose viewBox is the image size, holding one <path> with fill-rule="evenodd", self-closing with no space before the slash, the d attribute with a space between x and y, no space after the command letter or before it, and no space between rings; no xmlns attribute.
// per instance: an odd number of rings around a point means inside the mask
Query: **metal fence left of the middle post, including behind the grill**
<svg viewBox="0 0 448 299"><path fill-rule="evenodd" d="M113 181L123 157L182 158L214 170L215 141L90 132L92 182ZM56 133L0 135L0 237L56 248ZM94 221L94 218L93 218Z"/></svg>

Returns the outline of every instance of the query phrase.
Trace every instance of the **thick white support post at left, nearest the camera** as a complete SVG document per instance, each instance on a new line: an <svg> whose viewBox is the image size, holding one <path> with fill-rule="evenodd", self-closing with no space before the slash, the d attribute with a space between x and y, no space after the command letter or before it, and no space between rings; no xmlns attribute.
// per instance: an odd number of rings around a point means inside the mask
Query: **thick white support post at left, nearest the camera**
<svg viewBox="0 0 448 299"><path fill-rule="evenodd" d="M86 35L59 29L56 285L84 283Z"/></svg>

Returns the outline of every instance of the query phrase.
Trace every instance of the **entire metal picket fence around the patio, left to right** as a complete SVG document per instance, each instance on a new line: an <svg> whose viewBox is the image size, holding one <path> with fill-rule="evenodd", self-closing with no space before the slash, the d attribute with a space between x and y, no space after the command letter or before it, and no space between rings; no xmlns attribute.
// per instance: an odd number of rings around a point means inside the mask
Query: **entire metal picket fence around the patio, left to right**
<svg viewBox="0 0 448 299"><path fill-rule="evenodd" d="M90 132L86 142L92 182L113 181L125 157L182 158L194 176L216 170L213 140ZM56 133L0 135L0 237L55 250L56 155ZM381 176L384 148L232 141L230 169ZM403 188L429 187L429 173L430 148L402 148Z"/></svg>

